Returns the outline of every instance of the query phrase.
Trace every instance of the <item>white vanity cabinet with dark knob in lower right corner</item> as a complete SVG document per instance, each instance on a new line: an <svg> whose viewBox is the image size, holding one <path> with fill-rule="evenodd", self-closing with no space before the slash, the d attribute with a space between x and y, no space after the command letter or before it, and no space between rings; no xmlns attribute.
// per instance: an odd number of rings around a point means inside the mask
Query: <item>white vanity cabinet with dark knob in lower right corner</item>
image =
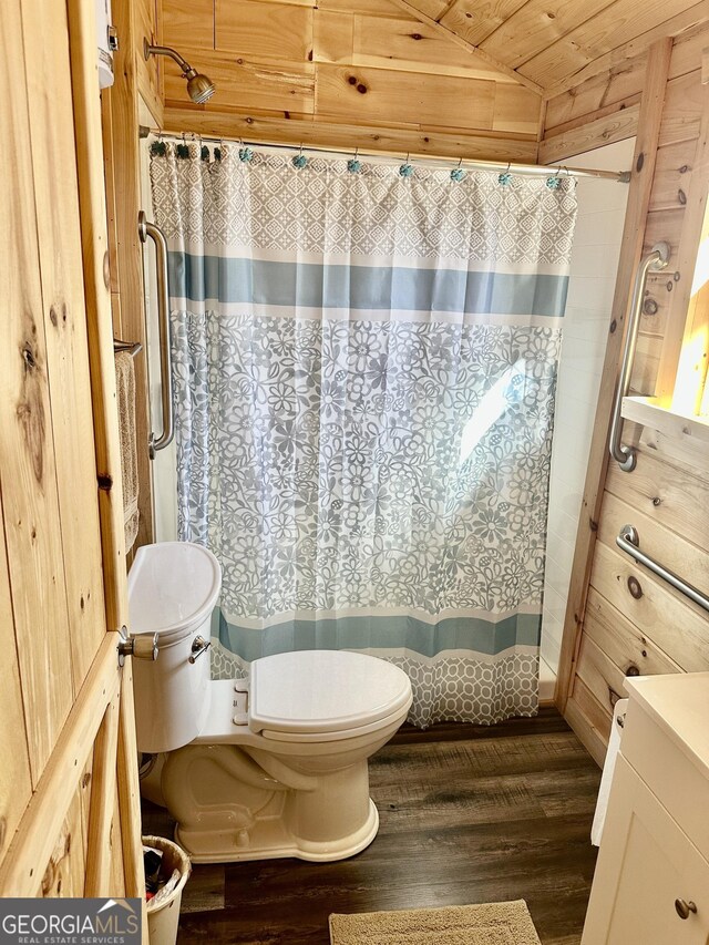
<svg viewBox="0 0 709 945"><path fill-rule="evenodd" d="M707 945L709 672L626 688L582 945Z"/></svg>

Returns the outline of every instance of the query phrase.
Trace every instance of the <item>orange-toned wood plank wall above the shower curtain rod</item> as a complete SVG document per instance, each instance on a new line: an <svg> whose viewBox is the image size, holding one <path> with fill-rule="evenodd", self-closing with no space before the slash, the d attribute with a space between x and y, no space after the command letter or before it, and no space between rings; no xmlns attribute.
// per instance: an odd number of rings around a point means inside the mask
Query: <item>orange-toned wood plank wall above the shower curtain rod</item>
<svg viewBox="0 0 709 945"><path fill-rule="evenodd" d="M534 161L541 96L387 0L163 0L165 127L247 140Z"/></svg>

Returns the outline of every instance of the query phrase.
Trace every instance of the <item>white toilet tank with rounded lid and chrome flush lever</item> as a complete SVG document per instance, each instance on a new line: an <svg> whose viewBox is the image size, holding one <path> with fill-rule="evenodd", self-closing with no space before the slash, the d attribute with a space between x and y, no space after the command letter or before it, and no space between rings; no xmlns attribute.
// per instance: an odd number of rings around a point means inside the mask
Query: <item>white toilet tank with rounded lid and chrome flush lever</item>
<svg viewBox="0 0 709 945"><path fill-rule="evenodd" d="M157 634L157 659L133 659L140 751L173 751L195 739L209 711L212 612L222 586L219 563L189 542L144 545L129 574L130 631ZM192 661L191 661L192 658Z"/></svg>

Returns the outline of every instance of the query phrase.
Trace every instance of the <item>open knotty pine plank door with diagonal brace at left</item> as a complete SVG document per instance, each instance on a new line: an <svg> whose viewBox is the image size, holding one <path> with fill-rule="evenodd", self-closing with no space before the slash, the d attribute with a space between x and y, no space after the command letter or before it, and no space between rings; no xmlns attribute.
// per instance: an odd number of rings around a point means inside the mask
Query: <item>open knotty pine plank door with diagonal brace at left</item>
<svg viewBox="0 0 709 945"><path fill-rule="evenodd" d="M135 869L124 877L140 821L116 792L137 781L134 722L121 767L106 736L125 574L109 522L120 506L123 541L105 198L90 186L102 178L95 29L83 0L0 4L0 81L12 88L0 100L2 896L143 888Z"/></svg>

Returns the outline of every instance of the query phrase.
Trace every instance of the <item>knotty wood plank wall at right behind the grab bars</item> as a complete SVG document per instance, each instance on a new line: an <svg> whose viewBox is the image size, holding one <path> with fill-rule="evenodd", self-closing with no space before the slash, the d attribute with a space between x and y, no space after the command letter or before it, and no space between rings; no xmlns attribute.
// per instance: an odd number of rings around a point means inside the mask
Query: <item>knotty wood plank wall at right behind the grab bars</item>
<svg viewBox="0 0 709 945"><path fill-rule="evenodd" d="M657 104L661 109L658 145L649 155L655 157L655 172L647 213L638 225L644 232L643 251L665 239L671 258L668 269L651 274L648 280L631 381L636 393L654 394L656 389L668 393L660 366L669 351L676 364L677 339L684 336L709 187L706 173L695 173L698 161L706 168L709 86L702 84L702 55L707 48L707 25L675 38L667 84ZM541 143L543 158L563 161L643 132L638 115L644 89L651 81L647 68L644 53L551 99ZM616 322L609 325L609 331L616 327ZM606 391L615 383L616 366L610 369L604 378ZM671 369L665 368L665 373L674 380ZM630 523L638 528L646 553L709 590L709 472L668 448L653 431L631 423L626 423L625 442L638 448L636 470L620 472L610 463L606 472L608 401L602 394L606 413L602 410L597 415L602 435L596 438L595 451L592 448L557 690L567 718L599 761L626 676L709 669L707 614L635 565L615 544L621 526ZM579 577L584 565L586 581Z"/></svg>

